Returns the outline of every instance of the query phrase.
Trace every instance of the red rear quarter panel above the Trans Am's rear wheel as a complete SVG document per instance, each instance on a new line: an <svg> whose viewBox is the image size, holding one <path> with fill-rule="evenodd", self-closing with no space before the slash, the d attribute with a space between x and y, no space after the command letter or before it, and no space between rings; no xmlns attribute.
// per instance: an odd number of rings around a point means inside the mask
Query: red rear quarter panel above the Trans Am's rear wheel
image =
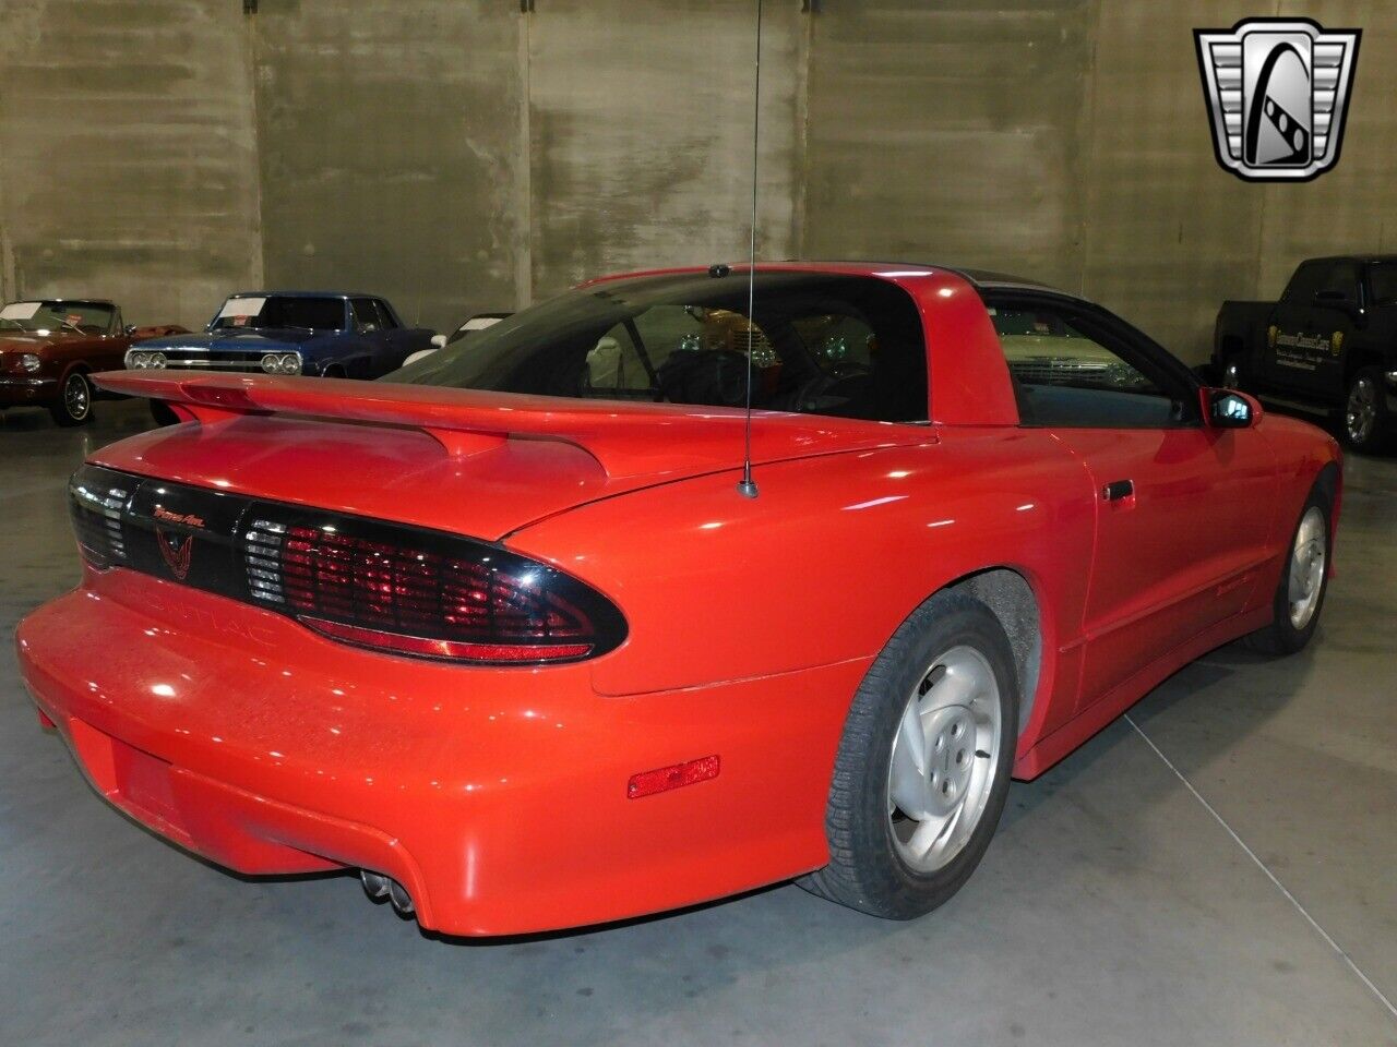
<svg viewBox="0 0 1397 1047"><path fill-rule="evenodd" d="M944 430L937 444L767 465L757 498L740 497L736 480L724 472L651 487L507 537L624 613L626 644L592 663L599 692L869 658L928 596L997 565L1032 586L1045 651L1080 630L1092 487L1046 431ZM1071 690L1052 669L1042 667L1039 697ZM1035 720L1046 705L1035 702Z"/></svg>

